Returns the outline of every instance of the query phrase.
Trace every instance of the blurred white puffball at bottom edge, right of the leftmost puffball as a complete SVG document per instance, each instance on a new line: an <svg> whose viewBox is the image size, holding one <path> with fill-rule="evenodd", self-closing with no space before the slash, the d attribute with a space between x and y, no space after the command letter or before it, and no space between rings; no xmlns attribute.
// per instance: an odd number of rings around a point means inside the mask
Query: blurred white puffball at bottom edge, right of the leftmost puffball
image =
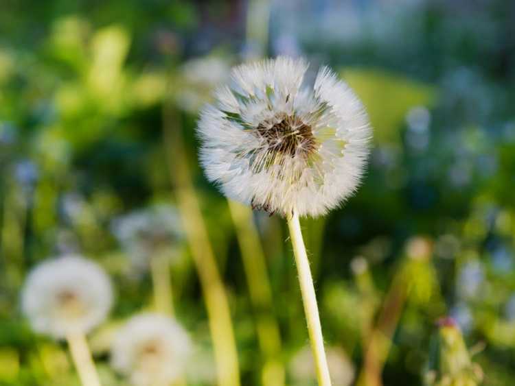
<svg viewBox="0 0 515 386"><path fill-rule="evenodd" d="M174 319L145 313L117 333L111 364L133 385L170 385L183 375L190 352L190 338Z"/></svg>

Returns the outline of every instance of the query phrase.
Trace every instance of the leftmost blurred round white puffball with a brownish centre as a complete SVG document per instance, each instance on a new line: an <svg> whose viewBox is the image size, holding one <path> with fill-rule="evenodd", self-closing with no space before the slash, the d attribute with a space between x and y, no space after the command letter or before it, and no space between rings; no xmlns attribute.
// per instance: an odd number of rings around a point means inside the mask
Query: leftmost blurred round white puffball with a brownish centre
<svg viewBox="0 0 515 386"><path fill-rule="evenodd" d="M36 332L61 339L88 333L102 323L113 304L113 289L98 264L68 255L45 261L32 270L21 303Z"/></svg>

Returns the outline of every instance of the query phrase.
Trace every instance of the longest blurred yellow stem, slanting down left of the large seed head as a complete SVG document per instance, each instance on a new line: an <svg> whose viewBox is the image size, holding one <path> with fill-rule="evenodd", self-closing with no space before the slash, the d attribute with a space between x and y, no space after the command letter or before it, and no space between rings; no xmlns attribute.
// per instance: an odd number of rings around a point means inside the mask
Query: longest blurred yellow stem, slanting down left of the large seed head
<svg viewBox="0 0 515 386"><path fill-rule="evenodd" d="M170 176L175 185L186 238L201 282L213 340L219 386L240 386L238 351L229 300L216 265L213 248L187 164L179 114L170 101L163 106L163 136Z"/></svg>

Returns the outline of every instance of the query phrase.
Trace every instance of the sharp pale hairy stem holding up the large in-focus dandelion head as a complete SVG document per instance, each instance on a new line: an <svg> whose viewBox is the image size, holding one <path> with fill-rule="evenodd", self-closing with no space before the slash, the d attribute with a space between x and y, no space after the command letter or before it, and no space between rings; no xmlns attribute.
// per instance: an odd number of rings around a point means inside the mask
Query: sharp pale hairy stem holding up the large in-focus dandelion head
<svg viewBox="0 0 515 386"><path fill-rule="evenodd" d="M292 215L288 216L287 221L293 245L295 264L297 265L297 272L299 273L302 302L304 303L304 313L306 313L308 334L311 341L319 386L331 386L328 361L323 348L322 327L320 324L319 308L317 306L317 296L314 293L313 279L311 277L308 254L306 253L306 247L302 239L299 215L294 211Z"/></svg>

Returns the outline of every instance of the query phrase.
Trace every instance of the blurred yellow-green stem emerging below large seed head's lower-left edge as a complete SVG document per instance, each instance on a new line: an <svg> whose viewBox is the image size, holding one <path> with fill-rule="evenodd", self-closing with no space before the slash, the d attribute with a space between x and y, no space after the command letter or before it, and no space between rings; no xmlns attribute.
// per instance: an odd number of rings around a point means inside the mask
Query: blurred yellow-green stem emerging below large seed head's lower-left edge
<svg viewBox="0 0 515 386"><path fill-rule="evenodd" d="M243 268L256 315L258 343L265 356L262 370L263 386L284 386L285 370L279 360L281 335L272 309L272 291L266 272L266 261L258 230L252 221L252 211L247 206L228 200L231 217L240 244Z"/></svg>

